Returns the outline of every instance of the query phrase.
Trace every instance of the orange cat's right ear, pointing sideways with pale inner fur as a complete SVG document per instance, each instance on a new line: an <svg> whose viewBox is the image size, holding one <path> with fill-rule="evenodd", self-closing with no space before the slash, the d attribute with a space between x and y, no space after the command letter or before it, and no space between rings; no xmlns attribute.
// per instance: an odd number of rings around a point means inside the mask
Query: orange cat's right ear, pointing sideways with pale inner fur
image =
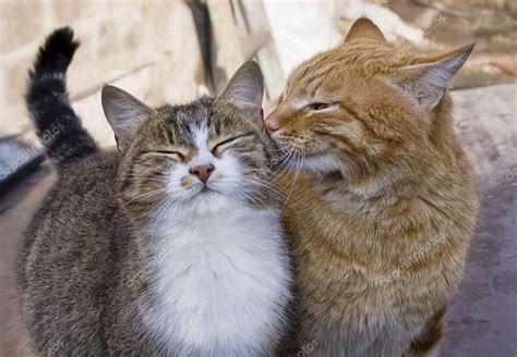
<svg viewBox="0 0 517 357"><path fill-rule="evenodd" d="M473 47L471 44L437 57L424 58L420 64L402 66L390 74L390 79L414 99L419 109L432 109L440 103Z"/></svg>

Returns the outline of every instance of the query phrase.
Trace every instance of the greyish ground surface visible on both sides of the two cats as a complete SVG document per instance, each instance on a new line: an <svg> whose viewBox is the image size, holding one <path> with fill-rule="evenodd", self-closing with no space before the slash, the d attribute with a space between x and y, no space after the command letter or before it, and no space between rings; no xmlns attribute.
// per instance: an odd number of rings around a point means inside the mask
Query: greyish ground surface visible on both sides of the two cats
<svg viewBox="0 0 517 357"><path fill-rule="evenodd" d="M513 357L517 347L517 85L454 93L457 131L477 171L481 213L441 356ZM48 163L0 197L0 356L20 356L11 267L32 213L53 182Z"/></svg>

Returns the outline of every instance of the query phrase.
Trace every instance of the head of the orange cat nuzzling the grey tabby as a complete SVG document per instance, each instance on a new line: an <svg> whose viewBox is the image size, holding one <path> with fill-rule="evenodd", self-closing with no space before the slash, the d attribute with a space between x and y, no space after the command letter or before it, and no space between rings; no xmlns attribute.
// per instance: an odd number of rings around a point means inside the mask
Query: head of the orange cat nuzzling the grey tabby
<svg viewBox="0 0 517 357"><path fill-rule="evenodd" d="M413 56L360 19L341 46L291 73L265 128L316 173L360 177L404 167L450 135L446 89L472 48Z"/></svg>

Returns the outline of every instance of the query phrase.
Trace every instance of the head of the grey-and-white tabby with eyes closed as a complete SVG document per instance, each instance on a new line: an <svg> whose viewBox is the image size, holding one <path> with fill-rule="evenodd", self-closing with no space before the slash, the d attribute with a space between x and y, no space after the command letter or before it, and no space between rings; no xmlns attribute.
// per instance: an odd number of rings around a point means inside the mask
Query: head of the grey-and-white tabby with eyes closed
<svg viewBox="0 0 517 357"><path fill-rule="evenodd" d="M106 86L103 108L122 156L121 206L142 219L160 210L192 214L273 205L260 197L275 155L261 130L262 97L254 62L243 64L217 98L184 106L153 109Z"/></svg>

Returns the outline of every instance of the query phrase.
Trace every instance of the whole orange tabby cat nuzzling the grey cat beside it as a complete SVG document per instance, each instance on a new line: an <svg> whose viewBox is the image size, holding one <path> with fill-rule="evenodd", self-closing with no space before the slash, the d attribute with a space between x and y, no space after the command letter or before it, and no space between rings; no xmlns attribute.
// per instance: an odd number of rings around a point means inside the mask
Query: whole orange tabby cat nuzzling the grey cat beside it
<svg viewBox="0 0 517 357"><path fill-rule="evenodd" d="M447 94L472 48L412 56L360 19L341 46L290 75L265 127L305 172L286 210L299 350L435 347L478 209Z"/></svg>

